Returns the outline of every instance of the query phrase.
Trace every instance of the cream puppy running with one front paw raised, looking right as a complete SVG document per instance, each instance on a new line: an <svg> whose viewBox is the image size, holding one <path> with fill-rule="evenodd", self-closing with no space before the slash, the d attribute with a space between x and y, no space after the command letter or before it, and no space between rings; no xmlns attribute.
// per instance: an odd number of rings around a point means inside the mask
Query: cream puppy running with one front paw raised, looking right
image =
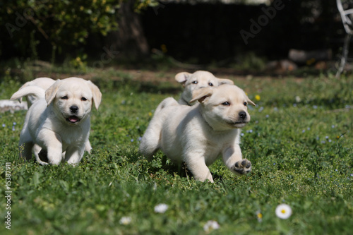
<svg viewBox="0 0 353 235"><path fill-rule="evenodd" d="M220 85L193 91L186 106L169 97L156 109L140 143L139 151L151 159L161 149L169 159L186 162L199 181L213 177L208 166L222 154L227 168L237 174L251 171L242 159L240 130L250 121L247 105L256 105L236 85Z"/></svg>

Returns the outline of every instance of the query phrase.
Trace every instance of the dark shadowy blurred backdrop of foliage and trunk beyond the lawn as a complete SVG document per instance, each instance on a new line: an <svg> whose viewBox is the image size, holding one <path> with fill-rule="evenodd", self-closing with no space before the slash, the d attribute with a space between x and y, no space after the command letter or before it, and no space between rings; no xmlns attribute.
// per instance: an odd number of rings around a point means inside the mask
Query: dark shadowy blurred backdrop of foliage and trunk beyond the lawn
<svg viewBox="0 0 353 235"><path fill-rule="evenodd" d="M330 59L339 59L345 31L335 1L282 0L284 7L245 44L239 32L250 32L251 20L278 1L4 0L0 62L30 58L94 67L100 61L96 67L102 68L119 59L172 58L262 69L268 61L287 59L290 49L331 50Z"/></svg>

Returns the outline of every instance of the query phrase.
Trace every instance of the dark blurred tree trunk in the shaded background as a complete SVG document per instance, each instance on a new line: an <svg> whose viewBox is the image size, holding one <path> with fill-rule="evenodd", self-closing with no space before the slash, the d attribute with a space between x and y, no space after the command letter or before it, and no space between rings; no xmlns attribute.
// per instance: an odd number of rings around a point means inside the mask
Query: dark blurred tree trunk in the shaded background
<svg viewBox="0 0 353 235"><path fill-rule="evenodd" d="M121 1L118 11L118 30L109 32L106 45L119 51L125 59L143 59L150 54L150 47L143 32L141 18L133 11L135 0Z"/></svg>

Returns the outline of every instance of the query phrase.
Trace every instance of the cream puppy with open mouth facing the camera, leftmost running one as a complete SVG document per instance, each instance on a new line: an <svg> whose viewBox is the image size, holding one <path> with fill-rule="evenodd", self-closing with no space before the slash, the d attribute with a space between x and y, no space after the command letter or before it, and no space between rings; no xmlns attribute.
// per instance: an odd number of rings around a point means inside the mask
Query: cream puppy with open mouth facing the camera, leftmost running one
<svg viewBox="0 0 353 235"><path fill-rule="evenodd" d="M30 90L21 95L30 95ZM16 93L12 100L19 98ZM42 150L34 154L40 164L59 164L63 152L68 164L78 164L90 134L92 104L98 109L101 99L102 93L89 80L56 80L45 91L45 98L37 100L28 110L20 133L20 157L30 159L33 145L39 145ZM40 159L41 153L46 155L47 162Z"/></svg>

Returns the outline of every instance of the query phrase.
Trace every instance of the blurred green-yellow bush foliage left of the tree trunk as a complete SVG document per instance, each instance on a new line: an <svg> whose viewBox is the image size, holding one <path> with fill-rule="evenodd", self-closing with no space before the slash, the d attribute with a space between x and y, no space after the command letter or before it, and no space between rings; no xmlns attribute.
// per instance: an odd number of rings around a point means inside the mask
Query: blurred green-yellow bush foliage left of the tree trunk
<svg viewBox="0 0 353 235"><path fill-rule="evenodd" d="M119 28L118 11L123 2L1 1L0 57L40 56L48 59L55 54L82 53L90 35L105 37ZM138 1L136 11L155 4L150 0Z"/></svg>

